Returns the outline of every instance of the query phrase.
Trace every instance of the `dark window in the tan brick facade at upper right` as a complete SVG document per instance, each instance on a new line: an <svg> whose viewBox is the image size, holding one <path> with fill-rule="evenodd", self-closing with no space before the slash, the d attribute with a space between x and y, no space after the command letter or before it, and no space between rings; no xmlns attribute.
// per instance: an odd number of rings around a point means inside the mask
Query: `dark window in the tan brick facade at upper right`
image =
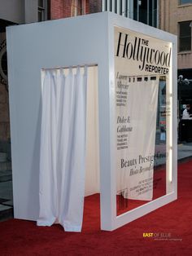
<svg viewBox="0 0 192 256"><path fill-rule="evenodd" d="M179 23L179 51L191 51L191 20Z"/></svg>

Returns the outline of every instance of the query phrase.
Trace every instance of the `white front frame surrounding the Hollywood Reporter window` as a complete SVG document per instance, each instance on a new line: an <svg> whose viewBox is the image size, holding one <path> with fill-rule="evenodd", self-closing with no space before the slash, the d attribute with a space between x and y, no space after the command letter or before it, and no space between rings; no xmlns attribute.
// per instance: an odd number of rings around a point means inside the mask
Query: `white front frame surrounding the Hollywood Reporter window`
<svg viewBox="0 0 192 256"><path fill-rule="evenodd" d="M116 217L116 150L112 150L112 148L116 148L116 144L113 139L116 138L116 130L111 130L111 195L114 196L113 198L111 198L111 216L114 219L112 219L110 230L114 230L118 227L123 226L125 223L129 223L134 219L140 218L143 215L150 213L152 210L156 210L159 207L166 205L169 202L177 199L177 88L175 86L177 85L177 37L170 33L165 33L164 31L152 28L151 26L147 26L146 24L138 23L137 21L130 20L128 18L119 18L119 16L113 15L111 13L109 13L109 24L109 73L111 74L111 127L113 127L113 124L115 123L115 99L113 99L115 95L115 53L113 42L114 40L112 40L112 38L114 38L114 26L122 27L124 29L131 29L137 33L142 33L152 38L158 38L167 42L172 42L172 82L170 83L170 85L168 85L171 86L172 90L172 159L169 159L169 161L172 161L172 170L168 170L168 172L172 172L172 184L170 186L169 183L170 188L166 196L159 197L155 201L146 203L146 205L142 205L134 210L130 210L129 212ZM109 230L106 225L104 225L103 229Z"/></svg>

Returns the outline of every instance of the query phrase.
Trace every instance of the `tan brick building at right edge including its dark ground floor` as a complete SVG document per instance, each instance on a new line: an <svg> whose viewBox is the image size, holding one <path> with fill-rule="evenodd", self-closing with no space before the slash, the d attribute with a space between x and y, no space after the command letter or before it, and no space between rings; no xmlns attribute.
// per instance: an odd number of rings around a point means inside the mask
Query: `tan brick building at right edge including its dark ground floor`
<svg viewBox="0 0 192 256"><path fill-rule="evenodd" d="M159 29L178 37L178 117L192 105L192 0L159 0ZM181 77L182 76L182 77ZM185 81L186 80L186 81Z"/></svg>

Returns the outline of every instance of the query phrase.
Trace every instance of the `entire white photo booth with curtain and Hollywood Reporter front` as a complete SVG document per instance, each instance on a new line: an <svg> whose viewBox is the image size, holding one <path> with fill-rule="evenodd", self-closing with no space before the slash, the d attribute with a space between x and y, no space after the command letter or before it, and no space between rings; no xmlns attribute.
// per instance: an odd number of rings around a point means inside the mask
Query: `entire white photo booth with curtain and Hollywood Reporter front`
<svg viewBox="0 0 192 256"><path fill-rule="evenodd" d="M14 217L111 231L177 199L177 37L109 12L7 28Z"/></svg>

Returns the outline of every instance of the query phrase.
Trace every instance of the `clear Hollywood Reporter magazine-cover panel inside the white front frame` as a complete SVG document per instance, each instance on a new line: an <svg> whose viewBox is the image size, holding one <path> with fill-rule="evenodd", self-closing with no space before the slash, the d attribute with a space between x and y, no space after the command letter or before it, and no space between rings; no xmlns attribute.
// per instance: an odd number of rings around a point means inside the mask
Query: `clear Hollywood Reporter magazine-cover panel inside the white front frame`
<svg viewBox="0 0 192 256"><path fill-rule="evenodd" d="M119 216L172 192L172 43L114 29Z"/></svg>

